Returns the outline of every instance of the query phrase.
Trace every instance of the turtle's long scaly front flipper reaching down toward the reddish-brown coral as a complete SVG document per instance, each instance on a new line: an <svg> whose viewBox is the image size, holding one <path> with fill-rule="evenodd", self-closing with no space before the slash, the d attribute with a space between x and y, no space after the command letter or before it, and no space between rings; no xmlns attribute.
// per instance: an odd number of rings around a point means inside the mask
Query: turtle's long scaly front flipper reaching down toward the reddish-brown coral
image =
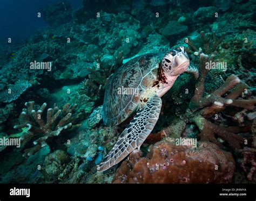
<svg viewBox="0 0 256 201"><path fill-rule="evenodd" d="M144 140L156 125L161 110L161 98L154 94L134 116L130 124L120 134L116 145L97 167L98 172L105 171L122 161L134 149L140 148Z"/></svg>

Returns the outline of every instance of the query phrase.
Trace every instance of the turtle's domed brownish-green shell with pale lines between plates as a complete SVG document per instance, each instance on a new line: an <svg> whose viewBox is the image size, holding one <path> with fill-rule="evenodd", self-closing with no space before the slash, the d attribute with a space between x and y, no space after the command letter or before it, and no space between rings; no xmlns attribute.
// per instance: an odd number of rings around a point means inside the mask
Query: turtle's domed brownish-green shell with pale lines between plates
<svg viewBox="0 0 256 201"><path fill-rule="evenodd" d="M161 54L140 55L110 77L103 103L105 125L118 125L137 110L145 90L157 81L162 58Z"/></svg>

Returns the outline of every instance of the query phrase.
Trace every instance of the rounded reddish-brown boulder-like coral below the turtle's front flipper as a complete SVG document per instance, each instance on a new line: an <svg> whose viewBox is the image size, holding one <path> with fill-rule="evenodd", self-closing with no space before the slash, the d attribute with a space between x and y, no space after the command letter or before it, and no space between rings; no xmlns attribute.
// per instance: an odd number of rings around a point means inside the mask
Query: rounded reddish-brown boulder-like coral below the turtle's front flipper
<svg viewBox="0 0 256 201"><path fill-rule="evenodd" d="M198 149L161 141L146 157L138 150L117 169L113 183L230 183L235 164L232 155L211 142Z"/></svg>

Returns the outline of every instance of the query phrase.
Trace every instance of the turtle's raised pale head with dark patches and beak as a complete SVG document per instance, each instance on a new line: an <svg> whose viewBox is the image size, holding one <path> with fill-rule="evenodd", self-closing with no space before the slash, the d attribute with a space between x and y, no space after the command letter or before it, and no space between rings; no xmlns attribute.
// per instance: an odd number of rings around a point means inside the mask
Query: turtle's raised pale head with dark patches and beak
<svg viewBox="0 0 256 201"><path fill-rule="evenodd" d="M187 53L183 46L172 49L165 54L161 66L167 75L177 76L183 73L190 65Z"/></svg>

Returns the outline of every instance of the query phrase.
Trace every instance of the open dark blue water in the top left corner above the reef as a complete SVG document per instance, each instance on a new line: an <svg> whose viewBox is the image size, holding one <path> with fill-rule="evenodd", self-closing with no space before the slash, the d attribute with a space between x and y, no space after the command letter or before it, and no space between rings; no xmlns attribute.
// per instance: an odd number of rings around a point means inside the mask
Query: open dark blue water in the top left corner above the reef
<svg viewBox="0 0 256 201"><path fill-rule="evenodd" d="M47 26L37 13L59 0L0 0L0 43L26 38ZM82 0L69 1L73 9L82 6Z"/></svg>

